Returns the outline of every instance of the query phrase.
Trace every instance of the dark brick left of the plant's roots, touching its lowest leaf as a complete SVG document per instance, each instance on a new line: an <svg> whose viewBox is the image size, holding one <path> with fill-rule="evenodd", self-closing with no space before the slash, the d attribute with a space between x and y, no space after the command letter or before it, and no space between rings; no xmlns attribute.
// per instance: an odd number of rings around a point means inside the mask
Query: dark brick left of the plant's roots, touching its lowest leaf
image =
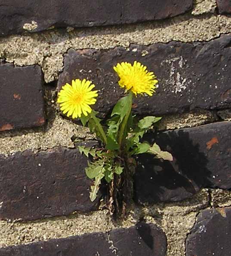
<svg viewBox="0 0 231 256"><path fill-rule="evenodd" d="M87 159L62 147L27 150L0 157L0 219L34 220L96 209L89 200L92 183L85 175Z"/></svg>

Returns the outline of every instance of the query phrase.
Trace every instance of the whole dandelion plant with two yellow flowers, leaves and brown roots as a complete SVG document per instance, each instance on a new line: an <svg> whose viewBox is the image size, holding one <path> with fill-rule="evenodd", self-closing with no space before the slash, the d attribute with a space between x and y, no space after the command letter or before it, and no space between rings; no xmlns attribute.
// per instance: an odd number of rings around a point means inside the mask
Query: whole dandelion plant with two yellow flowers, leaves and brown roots
<svg viewBox="0 0 231 256"><path fill-rule="evenodd" d="M102 179L108 184L108 208L116 216L125 214L126 205L132 199L132 176L136 168L135 155L142 153L153 154L155 158L172 160L172 155L160 150L154 143L141 141L143 135L161 118L146 116L138 120L132 115L132 100L139 94L151 97L156 89L157 79L153 72L139 62L133 65L127 62L114 66L120 80L118 84L125 89L122 97L111 112L111 117L102 125L97 112L90 106L94 105L98 92L93 89L91 81L83 79L72 80L65 84L58 94L61 111L73 119L79 118L84 126L95 132L100 140L99 148L78 146L80 153L91 157L86 168L86 175L93 179L90 200L97 197Z"/></svg>

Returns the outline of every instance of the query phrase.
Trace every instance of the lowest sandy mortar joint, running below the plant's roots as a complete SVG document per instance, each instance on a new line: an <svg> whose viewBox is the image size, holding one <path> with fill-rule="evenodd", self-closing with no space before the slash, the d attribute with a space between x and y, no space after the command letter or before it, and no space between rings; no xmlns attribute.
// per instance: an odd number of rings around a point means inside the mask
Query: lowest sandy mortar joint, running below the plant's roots
<svg viewBox="0 0 231 256"><path fill-rule="evenodd" d="M208 198L207 190L203 189L190 200L180 203L133 206L128 217L117 224L112 222L107 210L99 210L90 214L75 213L68 217L35 222L0 221L0 247L97 231L108 232L120 227L129 228L144 218L146 222L155 223L166 232L167 256L183 256L187 233L194 225L197 212L208 206Z"/></svg>

